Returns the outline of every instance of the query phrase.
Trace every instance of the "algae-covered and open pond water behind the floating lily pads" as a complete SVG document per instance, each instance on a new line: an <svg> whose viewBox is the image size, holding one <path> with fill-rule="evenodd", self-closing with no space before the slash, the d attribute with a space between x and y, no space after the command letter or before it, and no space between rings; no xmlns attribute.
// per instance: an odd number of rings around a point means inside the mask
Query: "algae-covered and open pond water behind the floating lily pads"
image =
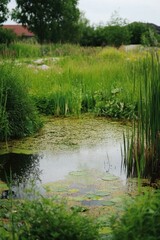
<svg viewBox="0 0 160 240"><path fill-rule="evenodd" d="M10 141L10 153L1 144L0 179L12 172L16 182L42 184L65 179L73 171L96 169L125 180L121 169L123 123L104 118L44 118L39 134Z"/></svg>

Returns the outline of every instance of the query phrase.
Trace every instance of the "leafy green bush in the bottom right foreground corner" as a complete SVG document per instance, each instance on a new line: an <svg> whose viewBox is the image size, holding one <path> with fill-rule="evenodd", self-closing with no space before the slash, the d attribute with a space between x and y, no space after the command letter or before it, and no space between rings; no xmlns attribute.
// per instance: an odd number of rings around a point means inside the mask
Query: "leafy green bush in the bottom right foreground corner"
<svg viewBox="0 0 160 240"><path fill-rule="evenodd" d="M112 219L112 240L160 239L160 192L148 192L129 202L123 216Z"/></svg>

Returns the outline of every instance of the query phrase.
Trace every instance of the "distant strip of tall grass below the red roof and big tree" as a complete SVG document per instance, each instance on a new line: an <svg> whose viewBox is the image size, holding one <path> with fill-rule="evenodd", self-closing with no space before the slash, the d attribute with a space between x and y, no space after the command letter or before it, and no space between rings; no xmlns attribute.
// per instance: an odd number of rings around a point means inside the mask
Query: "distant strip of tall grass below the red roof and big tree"
<svg viewBox="0 0 160 240"><path fill-rule="evenodd" d="M37 42L15 42L10 44L0 44L0 58L41 58L41 57L64 57L90 55L98 52L98 48L83 48L71 44L43 44Z"/></svg>

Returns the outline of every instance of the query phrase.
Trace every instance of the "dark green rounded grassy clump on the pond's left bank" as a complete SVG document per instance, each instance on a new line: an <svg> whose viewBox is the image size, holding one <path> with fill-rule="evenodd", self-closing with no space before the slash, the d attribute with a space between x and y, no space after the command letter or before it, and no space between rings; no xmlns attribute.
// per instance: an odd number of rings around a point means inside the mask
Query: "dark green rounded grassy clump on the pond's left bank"
<svg viewBox="0 0 160 240"><path fill-rule="evenodd" d="M0 140L29 135L40 127L36 109L18 69L0 65Z"/></svg>

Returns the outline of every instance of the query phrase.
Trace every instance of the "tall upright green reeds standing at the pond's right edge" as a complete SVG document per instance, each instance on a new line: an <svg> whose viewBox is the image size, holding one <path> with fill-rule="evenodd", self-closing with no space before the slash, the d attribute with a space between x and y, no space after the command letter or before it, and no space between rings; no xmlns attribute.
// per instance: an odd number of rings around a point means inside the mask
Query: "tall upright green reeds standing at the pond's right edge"
<svg viewBox="0 0 160 240"><path fill-rule="evenodd" d="M128 176L160 178L160 61L156 53L142 65L138 120L132 136L124 137L124 165Z"/></svg>

